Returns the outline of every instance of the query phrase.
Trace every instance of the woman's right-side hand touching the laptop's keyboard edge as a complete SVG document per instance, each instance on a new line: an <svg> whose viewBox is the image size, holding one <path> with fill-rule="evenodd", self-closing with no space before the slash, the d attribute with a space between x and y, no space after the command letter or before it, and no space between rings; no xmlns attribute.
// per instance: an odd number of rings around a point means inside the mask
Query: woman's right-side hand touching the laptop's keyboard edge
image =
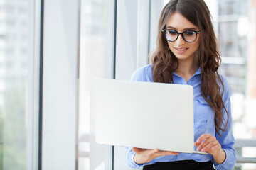
<svg viewBox="0 0 256 170"><path fill-rule="evenodd" d="M195 146L198 147L198 151L212 154L217 164L222 164L225 161L225 152L221 149L221 145L218 140L216 140L216 137L210 134L203 134L201 137L198 137Z"/></svg>

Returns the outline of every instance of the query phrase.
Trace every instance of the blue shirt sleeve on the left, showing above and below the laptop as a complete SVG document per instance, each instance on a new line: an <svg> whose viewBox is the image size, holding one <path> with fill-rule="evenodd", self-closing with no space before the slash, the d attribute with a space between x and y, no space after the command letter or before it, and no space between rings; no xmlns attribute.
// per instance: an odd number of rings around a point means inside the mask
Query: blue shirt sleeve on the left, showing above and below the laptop
<svg viewBox="0 0 256 170"><path fill-rule="evenodd" d="M144 78L144 68L137 69L131 77L131 81L145 81ZM133 169L139 169L139 167L144 166L144 164L136 164L134 162L135 152L132 150L132 147L125 147L125 154L127 157L127 164Z"/></svg>

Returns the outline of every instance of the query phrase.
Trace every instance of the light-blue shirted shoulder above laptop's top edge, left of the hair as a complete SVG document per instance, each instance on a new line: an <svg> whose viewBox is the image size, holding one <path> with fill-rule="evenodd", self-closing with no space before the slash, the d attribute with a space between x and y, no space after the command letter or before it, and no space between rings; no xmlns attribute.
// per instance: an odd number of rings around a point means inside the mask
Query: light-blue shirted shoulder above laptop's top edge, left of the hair
<svg viewBox="0 0 256 170"><path fill-rule="evenodd" d="M152 64L141 67L132 74L131 81L152 81Z"/></svg>

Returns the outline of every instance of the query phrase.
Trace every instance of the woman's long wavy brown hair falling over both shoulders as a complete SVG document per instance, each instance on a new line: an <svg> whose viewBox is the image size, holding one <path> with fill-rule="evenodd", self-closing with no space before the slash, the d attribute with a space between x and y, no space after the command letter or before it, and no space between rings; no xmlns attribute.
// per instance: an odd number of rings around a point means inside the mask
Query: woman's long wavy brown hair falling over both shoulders
<svg viewBox="0 0 256 170"><path fill-rule="evenodd" d="M156 40L156 52L152 55L154 82L172 83L173 72L178 68L178 59L169 49L168 43L161 30L166 28L166 22L174 12L181 13L201 30L201 40L196 51L196 60L201 67L201 94L215 112L215 129L220 135L220 130L227 127L223 111L228 111L223 103L223 81L218 74L220 66L220 53L218 41L215 37L210 11L203 0L171 0L161 12ZM224 128L222 128L222 125Z"/></svg>

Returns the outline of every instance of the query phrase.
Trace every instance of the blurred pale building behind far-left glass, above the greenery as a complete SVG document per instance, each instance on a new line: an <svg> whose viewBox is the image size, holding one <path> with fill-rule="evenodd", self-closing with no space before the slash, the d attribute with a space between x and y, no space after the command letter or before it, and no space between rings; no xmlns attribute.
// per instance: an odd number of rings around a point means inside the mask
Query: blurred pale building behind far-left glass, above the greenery
<svg viewBox="0 0 256 170"><path fill-rule="evenodd" d="M0 1L0 107L4 91L28 74L28 1Z"/></svg>

